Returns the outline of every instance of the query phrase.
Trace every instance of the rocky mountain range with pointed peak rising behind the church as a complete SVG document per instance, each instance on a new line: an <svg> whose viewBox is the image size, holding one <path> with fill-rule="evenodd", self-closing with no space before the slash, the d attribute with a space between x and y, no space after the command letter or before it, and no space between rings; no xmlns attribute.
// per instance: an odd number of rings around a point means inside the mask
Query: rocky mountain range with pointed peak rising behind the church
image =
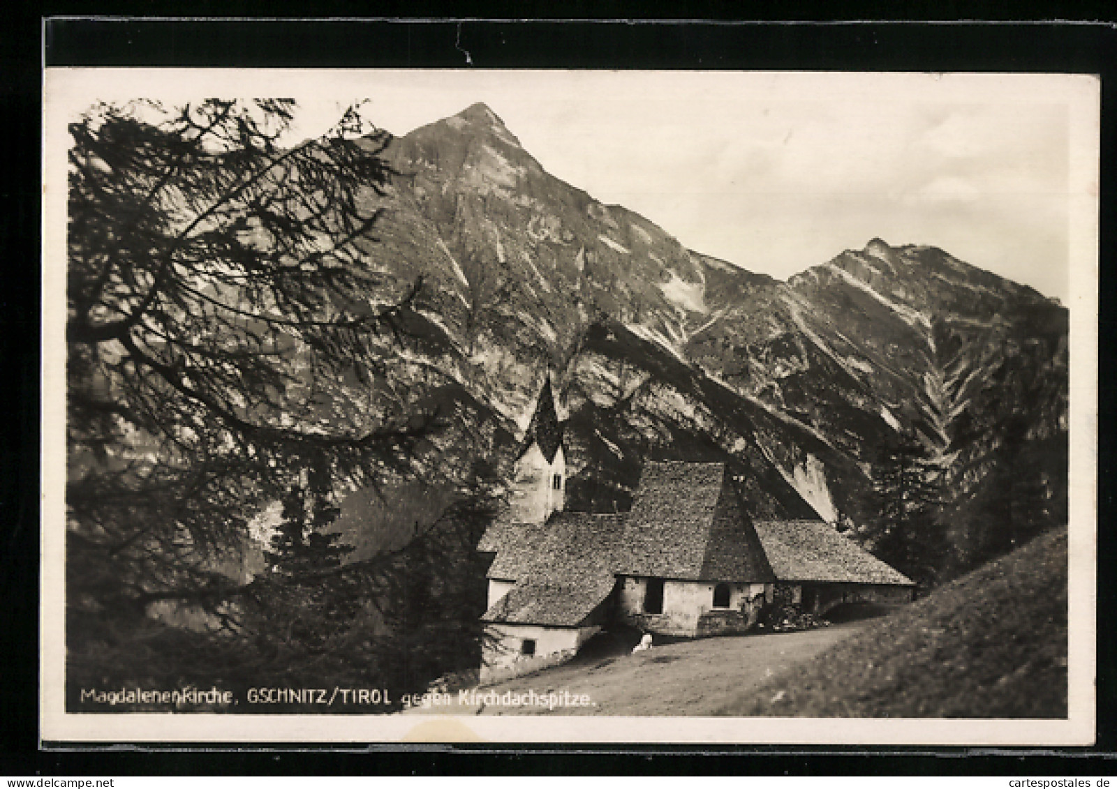
<svg viewBox="0 0 1117 789"><path fill-rule="evenodd" d="M376 298L422 279L427 329L455 348L432 364L509 435L552 372L575 506L626 507L646 456L717 456L768 514L805 501L859 525L881 448L906 432L933 459L962 554L981 554L975 525L1008 507L997 480L1066 517L1058 302L880 239L786 282L752 273L551 176L481 104L389 156L398 175L366 247Z"/></svg>

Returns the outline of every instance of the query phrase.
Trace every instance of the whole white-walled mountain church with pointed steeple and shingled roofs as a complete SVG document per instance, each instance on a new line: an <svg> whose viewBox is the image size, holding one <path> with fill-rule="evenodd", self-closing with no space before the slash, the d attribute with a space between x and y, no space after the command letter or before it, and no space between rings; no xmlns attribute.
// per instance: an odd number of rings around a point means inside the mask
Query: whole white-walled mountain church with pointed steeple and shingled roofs
<svg viewBox="0 0 1117 789"><path fill-rule="evenodd" d="M761 609L824 614L903 602L911 580L819 517L754 517L720 462L645 463L628 512L565 510L562 425L547 379L521 445L490 558L481 682L557 665L611 623L646 633L744 633Z"/></svg>

